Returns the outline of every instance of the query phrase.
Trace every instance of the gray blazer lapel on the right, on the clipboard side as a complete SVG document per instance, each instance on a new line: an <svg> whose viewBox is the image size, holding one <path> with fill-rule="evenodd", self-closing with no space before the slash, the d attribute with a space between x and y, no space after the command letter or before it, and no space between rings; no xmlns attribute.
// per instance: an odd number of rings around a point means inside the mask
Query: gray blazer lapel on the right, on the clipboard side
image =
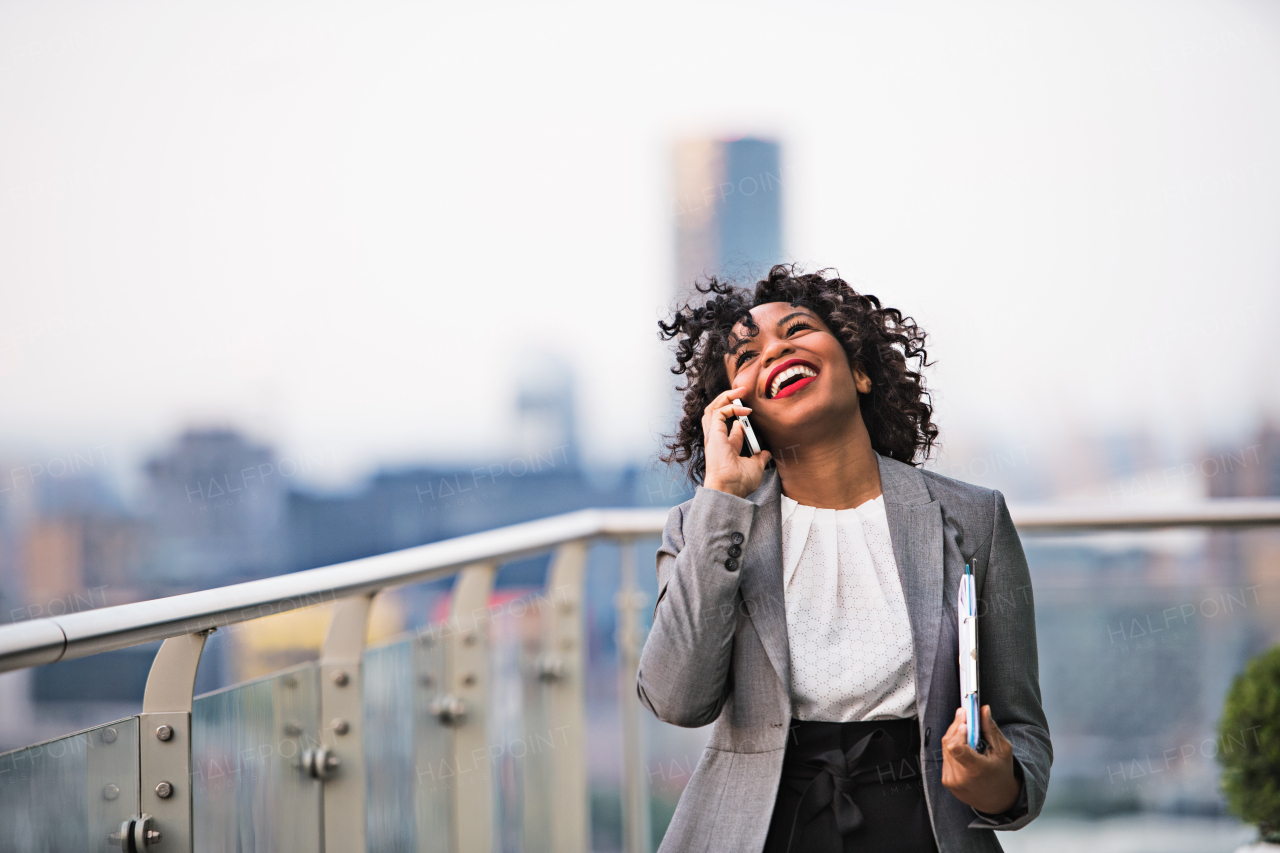
<svg viewBox="0 0 1280 853"><path fill-rule="evenodd" d="M919 469L879 456L879 470L893 560L911 621L915 704L923 720L943 616L942 508L929 496Z"/></svg>

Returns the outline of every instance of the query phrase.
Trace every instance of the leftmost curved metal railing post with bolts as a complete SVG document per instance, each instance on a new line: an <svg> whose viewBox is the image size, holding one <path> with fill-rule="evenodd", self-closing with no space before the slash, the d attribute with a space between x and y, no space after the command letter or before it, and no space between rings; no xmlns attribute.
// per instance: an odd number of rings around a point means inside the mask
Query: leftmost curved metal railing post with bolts
<svg viewBox="0 0 1280 853"><path fill-rule="evenodd" d="M151 662L138 715L140 813L128 849L192 853L191 704L210 630L166 639Z"/></svg>

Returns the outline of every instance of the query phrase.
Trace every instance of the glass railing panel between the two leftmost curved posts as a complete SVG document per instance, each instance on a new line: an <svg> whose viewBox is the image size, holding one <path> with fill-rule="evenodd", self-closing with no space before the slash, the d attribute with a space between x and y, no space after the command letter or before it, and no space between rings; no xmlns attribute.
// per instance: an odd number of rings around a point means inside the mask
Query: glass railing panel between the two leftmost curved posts
<svg viewBox="0 0 1280 853"><path fill-rule="evenodd" d="M320 745L316 663L197 697L191 742L198 853L320 849L320 783L302 766Z"/></svg>

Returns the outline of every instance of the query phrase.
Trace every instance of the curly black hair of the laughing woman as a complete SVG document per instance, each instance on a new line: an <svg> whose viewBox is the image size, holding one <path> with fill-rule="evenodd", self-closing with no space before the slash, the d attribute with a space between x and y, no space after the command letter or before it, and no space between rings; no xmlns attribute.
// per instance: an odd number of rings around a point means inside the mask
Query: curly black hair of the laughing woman
<svg viewBox="0 0 1280 853"><path fill-rule="evenodd" d="M778 264L754 291L714 277L694 287L709 297L696 306L686 302L669 323L658 321L660 337L676 341L671 371L687 377L677 388L685 394L682 415L676 434L667 437L667 452L659 457L663 462L681 465L691 482L703 482L703 412L730 387L723 356L732 345L731 332L742 323L756 334L750 311L765 302L790 302L817 314L844 345L849 364L861 365L870 377L872 391L860 409L876 452L909 465L929 457L938 428L920 371L932 362L924 351L924 329L914 319L882 307L878 298L855 292L826 269L803 273L795 265ZM910 361L916 361L915 370Z"/></svg>

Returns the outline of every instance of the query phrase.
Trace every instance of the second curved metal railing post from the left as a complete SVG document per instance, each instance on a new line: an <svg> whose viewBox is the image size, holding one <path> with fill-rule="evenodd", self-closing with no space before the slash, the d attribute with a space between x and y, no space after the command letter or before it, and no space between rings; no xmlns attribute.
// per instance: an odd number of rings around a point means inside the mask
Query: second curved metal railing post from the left
<svg viewBox="0 0 1280 853"><path fill-rule="evenodd" d="M360 684L365 634L374 593L343 598L334 607L320 649L320 742L310 756L312 776L324 780L324 849L365 850L365 731Z"/></svg>

